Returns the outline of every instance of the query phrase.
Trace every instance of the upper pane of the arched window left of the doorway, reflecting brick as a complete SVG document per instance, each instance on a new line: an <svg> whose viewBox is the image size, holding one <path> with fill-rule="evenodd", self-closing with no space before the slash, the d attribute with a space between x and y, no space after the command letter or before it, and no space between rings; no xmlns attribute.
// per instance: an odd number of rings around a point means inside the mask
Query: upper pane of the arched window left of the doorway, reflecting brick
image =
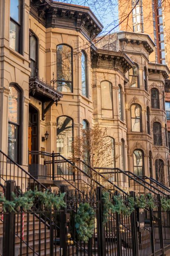
<svg viewBox="0 0 170 256"><path fill-rule="evenodd" d="M15 87L10 86L8 101L8 120L13 123L19 123L19 92Z"/></svg>

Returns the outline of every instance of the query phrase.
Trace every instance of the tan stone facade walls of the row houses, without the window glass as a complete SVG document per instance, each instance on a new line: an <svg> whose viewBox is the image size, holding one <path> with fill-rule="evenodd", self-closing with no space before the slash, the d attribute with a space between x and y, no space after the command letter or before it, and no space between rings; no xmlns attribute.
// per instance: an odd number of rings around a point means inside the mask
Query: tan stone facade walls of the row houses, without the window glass
<svg viewBox="0 0 170 256"><path fill-rule="evenodd" d="M47 152L57 152L57 118L60 116L72 119L74 136L80 134L82 120L86 120L90 128L98 124L107 130L107 136L114 138L115 154L120 156L115 164L116 167L133 172L133 152L138 149L143 152L143 175L151 175L151 159L152 176L155 178L155 160L161 159L167 184L169 150L165 139L166 113L163 93L169 69L165 65L153 65L149 62L149 55L154 51L151 38L146 34L125 32L100 38L97 35L102 30L102 25L89 8L63 3L57 6L57 2L48 3L47 1L44 9L38 9L37 2L45 2L45 0L31 1L31 4L29 0L24 1L23 50L18 53L10 48L8 25L10 0L0 0L0 148L2 151L7 154L9 147L10 85L17 84L22 91L20 119L22 121L19 138L21 143L18 144L21 148L19 163L22 166L27 168L29 164L29 110L32 111L31 109L34 108L37 111L37 150L44 148ZM63 97L59 101L55 98L55 102L52 102L57 105L51 103L49 108L50 96L48 95L47 100L39 95L40 91L33 92L29 87L30 32L37 40L37 69L40 84L50 84L52 73L57 79L57 46L64 44L72 49L73 90L72 92L62 91ZM82 50L86 56L87 65L87 97L82 95ZM129 82L129 72L134 67L134 63L138 66L138 87L130 86ZM101 88L103 81L109 82L110 86L108 89L110 91L105 96ZM152 88L159 91L160 108L151 107ZM60 93L58 95L58 97L61 96ZM107 95L111 97L111 107L107 107L109 104ZM138 118L134 121L140 124L140 131L132 131L132 105L139 106L141 109L140 121L137 120ZM150 111L150 134L147 130L147 107ZM44 112L45 108L47 108L46 112ZM43 113L45 116L42 115ZM139 117L138 114L137 116ZM161 146L154 146L154 122L161 124ZM42 141L46 131L49 133L49 138L47 141ZM150 152L152 152L151 158Z"/></svg>

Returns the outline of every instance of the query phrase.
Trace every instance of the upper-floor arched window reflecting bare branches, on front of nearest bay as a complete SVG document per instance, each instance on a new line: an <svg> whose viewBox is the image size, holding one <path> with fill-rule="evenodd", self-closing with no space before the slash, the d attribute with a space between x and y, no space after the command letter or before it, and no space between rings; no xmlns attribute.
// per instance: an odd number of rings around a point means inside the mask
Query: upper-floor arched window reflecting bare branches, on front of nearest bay
<svg viewBox="0 0 170 256"><path fill-rule="evenodd" d="M72 48L57 45L57 90L72 92Z"/></svg>

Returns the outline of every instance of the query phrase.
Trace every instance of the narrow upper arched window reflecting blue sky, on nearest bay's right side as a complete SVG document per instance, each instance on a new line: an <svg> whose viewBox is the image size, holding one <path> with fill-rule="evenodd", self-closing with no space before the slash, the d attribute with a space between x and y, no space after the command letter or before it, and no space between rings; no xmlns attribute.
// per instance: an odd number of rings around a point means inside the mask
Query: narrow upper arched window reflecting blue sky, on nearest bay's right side
<svg viewBox="0 0 170 256"><path fill-rule="evenodd" d="M88 91L87 91L87 58L82 51L81 55L81 85L82 85L82 95L85 97L88 97Z"/></svg>

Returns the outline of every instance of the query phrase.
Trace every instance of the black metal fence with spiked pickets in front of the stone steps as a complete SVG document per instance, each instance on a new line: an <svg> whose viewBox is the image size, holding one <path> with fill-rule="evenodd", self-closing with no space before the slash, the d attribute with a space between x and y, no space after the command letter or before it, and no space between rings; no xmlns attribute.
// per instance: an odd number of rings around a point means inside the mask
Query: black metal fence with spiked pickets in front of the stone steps
<svg viewBox="0 0 170 256"><path fill-rule="evenodd" d="M14 181L0 186L8 200L11 192L18 195ZM161 208L160 194L153 195L155 207L135 210L130 216L108 212L103 223L102 187L87 194L78 190L66 192L67 207L50 211L36 202L30 211L3 212L0 205L0 248L3 256L148 256L164 255L170 249L170 211ZM114 204L110 192L110 202ZM135 192L130 196L136 198ZM127 194L122 194L123 199ZM75 214L80 203L88 202L95 211L94 230L88 242L80 240L75 228ZM3 246L2 246L3 244Z"/></svg>

